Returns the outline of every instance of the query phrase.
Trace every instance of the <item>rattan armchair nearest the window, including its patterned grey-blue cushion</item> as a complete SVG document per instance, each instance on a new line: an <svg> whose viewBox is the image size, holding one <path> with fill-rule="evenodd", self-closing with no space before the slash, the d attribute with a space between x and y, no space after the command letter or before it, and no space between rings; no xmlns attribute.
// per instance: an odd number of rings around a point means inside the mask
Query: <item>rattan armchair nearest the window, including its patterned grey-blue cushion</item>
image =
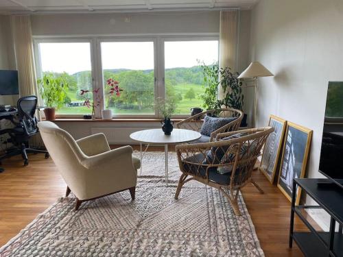
<svg viewBox="0 0 343 257"><path fill-rule="evenodd" d="M212 128L205 127L205 123L213 123L219 118ZM186 130L194 130L202 134L201 138L194 143L207 143L213 141L220 133L236 131L243 119L243 112L232 108L213 109L200 112L183 121L176 123L176 127ZM221 120L221 121L220 121Z"/></svg>

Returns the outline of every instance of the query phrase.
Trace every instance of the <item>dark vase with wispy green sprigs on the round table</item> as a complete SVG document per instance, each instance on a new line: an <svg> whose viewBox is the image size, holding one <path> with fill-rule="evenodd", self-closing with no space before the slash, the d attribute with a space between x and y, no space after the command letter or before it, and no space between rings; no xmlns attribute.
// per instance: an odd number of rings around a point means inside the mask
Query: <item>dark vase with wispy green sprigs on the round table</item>
<svg viewBox="0 0 343 257"><path fill-rule="evenodd" d="M161 121L163 132L165 132L165 135L170 135L173 131L173 122L170 121L170 118L171 114L173 114L176 109L175 100L171 98L158 98L156 100L155 106L158 112L158 116L163 117L163 121Z"/></svg>

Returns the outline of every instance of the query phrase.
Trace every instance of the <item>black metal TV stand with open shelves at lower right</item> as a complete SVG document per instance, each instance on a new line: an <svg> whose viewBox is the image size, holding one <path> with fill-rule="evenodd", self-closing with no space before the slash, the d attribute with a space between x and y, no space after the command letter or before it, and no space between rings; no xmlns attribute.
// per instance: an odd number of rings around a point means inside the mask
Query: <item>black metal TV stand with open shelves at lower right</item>
<svg viewBox="0 0 343 257"><path fill-rule="evenodd" d="M300 186L303 193L307 193L318 206L295 205L296 187ZM305 218L302 210L323 209L331 217L330 231L316 231ZM294 231L294 214L296 214L309 232ZM336 222L338 232L335 232ZM291 220L289 227L289 248L292 248L293 241L296 242L305 256L343 256L343 189L340 186L330 183L327 179L294 179Z"/></svg>

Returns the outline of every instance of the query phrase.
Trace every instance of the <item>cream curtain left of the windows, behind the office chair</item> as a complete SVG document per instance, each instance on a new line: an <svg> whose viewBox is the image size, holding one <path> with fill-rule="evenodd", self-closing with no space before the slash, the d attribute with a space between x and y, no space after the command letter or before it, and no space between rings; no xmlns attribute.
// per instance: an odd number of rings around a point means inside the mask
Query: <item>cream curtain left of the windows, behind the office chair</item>
<svg viewBox="0 0 343 257"><path fill-rule="evenodd" d="M12 29L14 51L16 55L16 69L18 69L19 77L19 95L20 97L25 97L27 95L36 95L38 97L36 73L34 69L31 20L29 15L12 16ZM36 114L39 118L38 110L36 110ZM43 146L43 141L39 134L30 138L29 143L36 147Z"/></svg>

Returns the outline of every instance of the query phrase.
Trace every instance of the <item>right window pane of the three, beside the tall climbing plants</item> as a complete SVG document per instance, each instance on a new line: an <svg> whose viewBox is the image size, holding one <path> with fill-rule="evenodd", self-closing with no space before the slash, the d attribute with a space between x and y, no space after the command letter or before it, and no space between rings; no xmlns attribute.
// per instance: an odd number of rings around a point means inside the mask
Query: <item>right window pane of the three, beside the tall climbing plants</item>
<svg viewBox="0 0 343 257"><path fill-rule="evenodd" d="M176 114L189 114L202 107L204 77L200 64L218 61L218 41L165 42L165 90L176 101Z"/></svg>

